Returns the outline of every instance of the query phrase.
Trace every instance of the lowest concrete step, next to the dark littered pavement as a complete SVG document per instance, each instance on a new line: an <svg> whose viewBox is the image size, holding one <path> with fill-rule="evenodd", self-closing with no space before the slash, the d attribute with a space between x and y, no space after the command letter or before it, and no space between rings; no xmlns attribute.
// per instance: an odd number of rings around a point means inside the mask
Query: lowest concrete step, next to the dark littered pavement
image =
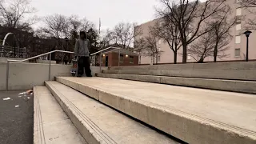
<svg viewBox="0 0 256 144"><path fill-rule="evenodd" d="M46 86L34 87L34 144L87 144Z"/></svg>

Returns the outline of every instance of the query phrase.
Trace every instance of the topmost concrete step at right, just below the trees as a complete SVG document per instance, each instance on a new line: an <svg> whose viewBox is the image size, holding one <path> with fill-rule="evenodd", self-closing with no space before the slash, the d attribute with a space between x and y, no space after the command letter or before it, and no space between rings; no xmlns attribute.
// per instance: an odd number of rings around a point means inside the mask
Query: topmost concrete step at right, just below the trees
<svg viewBox="0 0 256 144"><path fill-rule="evenodd" d="M256 70L256 62L186 63L154 66L120 66L110 70Z"/></svg>

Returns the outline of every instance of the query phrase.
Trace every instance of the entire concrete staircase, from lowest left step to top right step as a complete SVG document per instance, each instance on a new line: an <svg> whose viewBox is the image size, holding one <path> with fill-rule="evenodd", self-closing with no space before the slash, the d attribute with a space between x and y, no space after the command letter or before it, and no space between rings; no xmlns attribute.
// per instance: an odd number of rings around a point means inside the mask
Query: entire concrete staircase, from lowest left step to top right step
<svg viewBox="0 0 256 144"><path fill-rule="evenodd" d="M34 87L34 143L256 144L256 65L230 65L57 77Z"/></svg>

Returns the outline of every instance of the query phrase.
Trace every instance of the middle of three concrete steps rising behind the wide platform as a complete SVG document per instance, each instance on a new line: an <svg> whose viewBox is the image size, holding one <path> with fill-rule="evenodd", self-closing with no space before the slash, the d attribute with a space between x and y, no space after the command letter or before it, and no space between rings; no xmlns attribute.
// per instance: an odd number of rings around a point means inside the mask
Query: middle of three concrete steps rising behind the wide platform
<svg viewBox="0 0 256 144"><path fill-rule="evenodd" d="M102 73L256 81L256 70L102 70Z"/></svg>

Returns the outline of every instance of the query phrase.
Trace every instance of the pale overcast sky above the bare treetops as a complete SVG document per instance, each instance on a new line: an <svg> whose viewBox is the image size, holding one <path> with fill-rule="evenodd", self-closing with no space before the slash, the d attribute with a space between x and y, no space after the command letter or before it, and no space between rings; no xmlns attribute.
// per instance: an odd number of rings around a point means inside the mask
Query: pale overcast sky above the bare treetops
<svg viewBox="0 0 256 144"><path fill-rule="evenodd" d="M102 19L102 30L113 28L118 22L148 22L154 19L157 0L32 0L38 16L50 14L77 14L86 17L98 27Z"/></svg>

